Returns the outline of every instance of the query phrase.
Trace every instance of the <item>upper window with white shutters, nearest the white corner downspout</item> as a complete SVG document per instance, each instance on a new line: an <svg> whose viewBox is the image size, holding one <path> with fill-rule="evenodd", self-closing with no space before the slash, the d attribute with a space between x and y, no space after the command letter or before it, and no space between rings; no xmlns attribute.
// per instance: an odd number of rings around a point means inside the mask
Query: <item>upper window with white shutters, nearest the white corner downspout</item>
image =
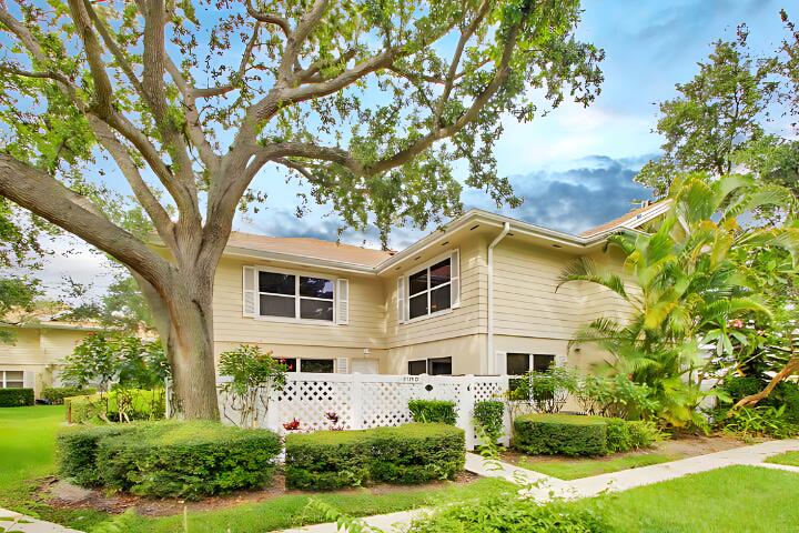
<svg viewBox="0 0 799 533"><path fill-rule="evenodd" d="M454 250L397 279L401 322L435 315L459 305L459 259Z"/></svg>

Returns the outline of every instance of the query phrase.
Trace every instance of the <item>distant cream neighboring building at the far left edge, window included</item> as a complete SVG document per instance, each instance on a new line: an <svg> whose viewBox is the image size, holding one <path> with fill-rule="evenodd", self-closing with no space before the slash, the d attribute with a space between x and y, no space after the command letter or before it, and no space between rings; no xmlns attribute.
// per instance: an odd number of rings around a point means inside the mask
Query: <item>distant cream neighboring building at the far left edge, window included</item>
<svg viewBox="0 0 799 533"><path fill-rule="evenodd" d="M31 388L36 396L47 386L59 386L59 363L90 333L91 324L36 321L21 325L0 323L14 334L12 343L0 342L0 389Z"/></svg>

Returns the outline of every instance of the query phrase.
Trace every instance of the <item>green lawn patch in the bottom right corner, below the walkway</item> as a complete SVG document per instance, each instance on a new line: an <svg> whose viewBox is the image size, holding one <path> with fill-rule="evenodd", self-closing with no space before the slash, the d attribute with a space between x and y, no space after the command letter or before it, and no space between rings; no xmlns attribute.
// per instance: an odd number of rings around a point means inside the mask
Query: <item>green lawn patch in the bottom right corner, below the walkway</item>
<svg viewBox="0 0 799 533"><path fill-rule="evenodd" d="M607 494L593 506L618 533L797 533L799 474L728 466Z"/></svg>

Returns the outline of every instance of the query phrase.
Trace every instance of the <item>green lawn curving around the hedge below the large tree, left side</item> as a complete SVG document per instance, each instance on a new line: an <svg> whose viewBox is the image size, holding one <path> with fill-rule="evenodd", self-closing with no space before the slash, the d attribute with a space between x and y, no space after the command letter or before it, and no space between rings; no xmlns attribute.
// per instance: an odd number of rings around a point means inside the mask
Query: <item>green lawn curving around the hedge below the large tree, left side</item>
<svg viewBox="0 0 799 533"><path fill-rule="evenodd" d="M63 421L63 406L33 406L0 409L0 506L31 514L79 530L90 531L95 525L113 520L119 531L180 532L182 516L149 517L125 515L114 517L91 510L57 510L33 501L33 480L50 475L55 470L54 436ZM225 510L190 512L189 531L201 532L267 532L299 524L326 522L321 512L307 510L311 497L334 506L352 516L391 513L446 501L468 500L490 494L513 493L512 484L499 480L478 480L459 485L437 487L407 487L397 492L375 493L361 489L337 493L318 493L314 496L286 494L260 503L242 504Z"/></svg>

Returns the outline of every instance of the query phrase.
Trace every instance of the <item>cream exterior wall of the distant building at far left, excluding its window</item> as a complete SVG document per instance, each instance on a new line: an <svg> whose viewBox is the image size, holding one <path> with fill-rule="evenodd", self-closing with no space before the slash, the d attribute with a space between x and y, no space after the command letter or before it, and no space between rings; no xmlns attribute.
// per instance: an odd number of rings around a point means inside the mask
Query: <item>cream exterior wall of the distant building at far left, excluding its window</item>
<svg viewBox="0 0 799 533"><path fill-rule="evenodd" d="M13 344L0 344L0 370L21 370L24 386L32 386L36 396L42 389L60 385L58 363L72 353L87 331L50 328L12 328Z"/></svg>

